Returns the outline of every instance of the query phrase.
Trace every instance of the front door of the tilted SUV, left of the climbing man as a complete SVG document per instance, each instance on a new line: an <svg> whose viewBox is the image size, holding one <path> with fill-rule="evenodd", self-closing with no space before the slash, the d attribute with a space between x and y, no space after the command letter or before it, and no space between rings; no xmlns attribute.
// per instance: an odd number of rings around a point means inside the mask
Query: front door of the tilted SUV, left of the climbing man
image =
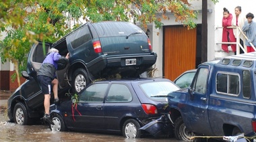
<svg viewBox="0 0 256 142"><path fill-rule="evenodd" d="M36 72L39 70L50 46L46 43L43 46L41 42L38 42L32 46L28 54L27 72L31 78L22 86L22 94L27 99L27 105L32 108L42 106L44 102L44 95L42 95Z"/></svg>

